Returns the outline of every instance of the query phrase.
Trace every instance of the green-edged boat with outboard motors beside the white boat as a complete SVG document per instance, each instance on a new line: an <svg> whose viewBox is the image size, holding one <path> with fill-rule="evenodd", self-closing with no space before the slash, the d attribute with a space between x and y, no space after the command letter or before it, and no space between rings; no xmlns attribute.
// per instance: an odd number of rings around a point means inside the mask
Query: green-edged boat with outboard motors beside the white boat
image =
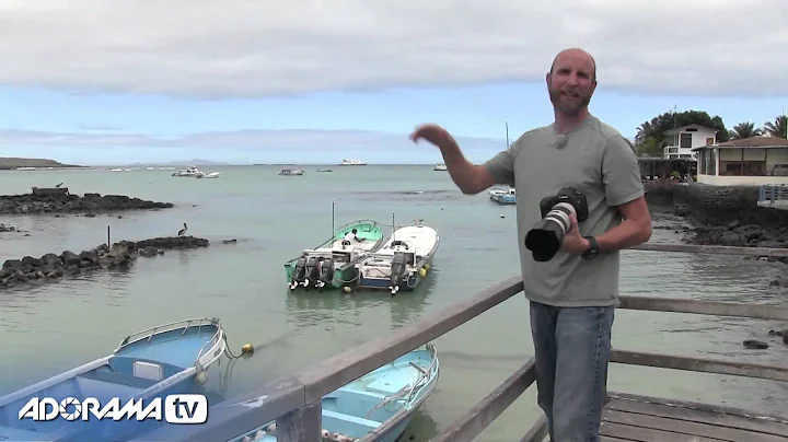
<svg viewBox="0 0 788 442"><path fill-rule="evenodd" d="M345 239L354 230L355 236L362 241ZM375 221L358 220L339 228L323 244L285 263L288 287L290 290L299 287L324 290L352 284L357 279L355 264L376 251L383 239L381 225Z"/></svg>

